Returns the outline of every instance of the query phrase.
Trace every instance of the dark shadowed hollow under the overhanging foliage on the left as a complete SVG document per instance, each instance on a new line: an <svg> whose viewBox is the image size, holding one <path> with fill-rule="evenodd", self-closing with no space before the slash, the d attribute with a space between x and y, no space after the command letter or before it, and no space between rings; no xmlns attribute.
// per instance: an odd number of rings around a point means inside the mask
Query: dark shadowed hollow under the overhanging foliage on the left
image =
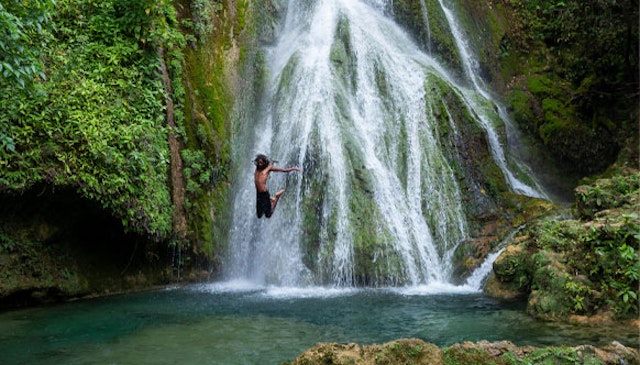
<svg viewBox="0 0 640 365"><path fill-rule="evenodd" d="M0 253L2 307L140 289L173 274L170 249L50 186L0 196Z"/></svg>

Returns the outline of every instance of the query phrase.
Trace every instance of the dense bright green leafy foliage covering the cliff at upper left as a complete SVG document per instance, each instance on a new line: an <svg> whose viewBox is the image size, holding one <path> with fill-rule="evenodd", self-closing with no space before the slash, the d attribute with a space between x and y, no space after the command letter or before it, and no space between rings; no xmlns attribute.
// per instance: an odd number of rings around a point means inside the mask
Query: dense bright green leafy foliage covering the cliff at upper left
<svg viewBox="0 0 640 365"><path fill-rule="evenodd" d="M0 90L0 190L74 186L126 229L168 235L166 95L155 47L179 50L175 11L166 1L62 0L50 16L55 28L31 47L42 55L42 92L25 95L15 83Z"/></svg>

